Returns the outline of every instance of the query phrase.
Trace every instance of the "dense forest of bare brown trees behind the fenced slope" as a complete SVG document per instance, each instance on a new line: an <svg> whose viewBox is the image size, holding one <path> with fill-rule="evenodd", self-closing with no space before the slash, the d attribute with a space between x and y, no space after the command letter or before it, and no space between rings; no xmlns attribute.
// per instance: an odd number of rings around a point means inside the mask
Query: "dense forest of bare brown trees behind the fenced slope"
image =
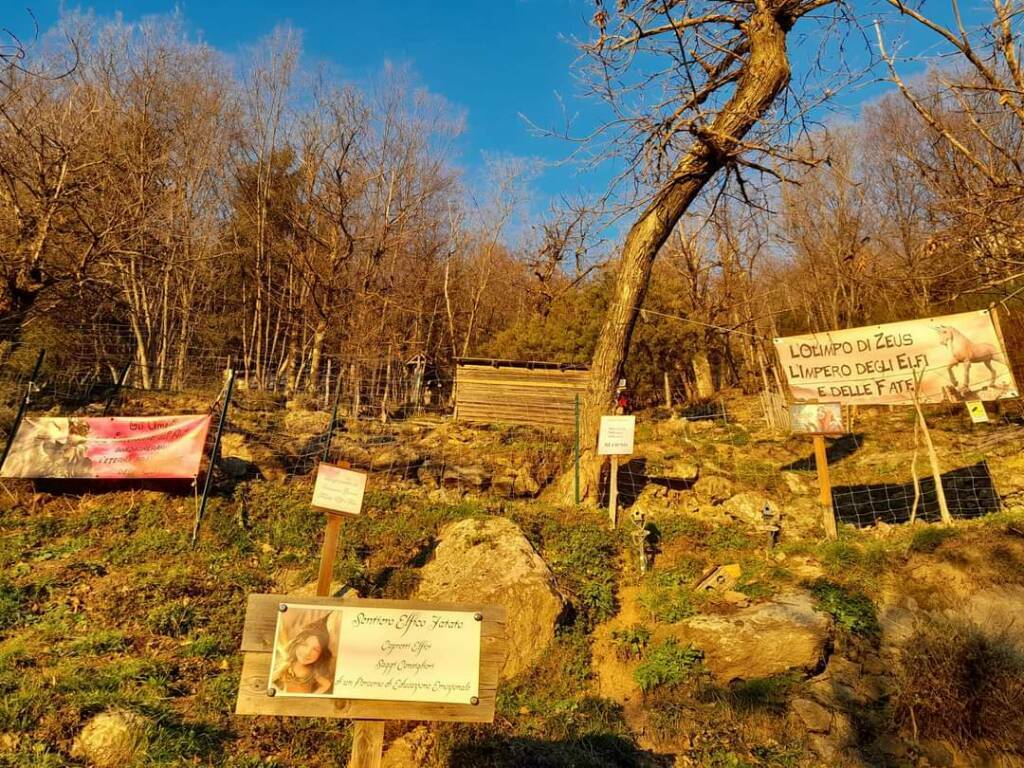
<svg viewBox="0 0 1024 768"><path fill-rule="evenodd" d="M824 5L781 4L786 24ZM656 30L655 6L624 13ZM1019 8L995 0L986 26L947 29L888 6L952 51L946 66L907 77L889 27L861 30L889 93L856 120L801 122L770 162L736 147L714 194L651 241L660 257L645 257L644 311L628 319L641 401L659 401L666 374L693 398L761 388L765 339L780 333L1015 311ZM588 50L613 61L639 41L602 13ZM596 205L539 205L526 161L494 158L467 178L463 115L407 69L349 83L306 66L288 30L229 59L173 18L69 15L3 51L5 359L45 339L50 365L87 349L108 377L131 360L139 386L174 387L198 360L229 357L249 386L295 392L319 386L328 360L586 362L605 335L627 233L600 225ZM740 75L706 77L728 89ZM710 140L698 122L647 145L644 195L683 139Z"/></svg>

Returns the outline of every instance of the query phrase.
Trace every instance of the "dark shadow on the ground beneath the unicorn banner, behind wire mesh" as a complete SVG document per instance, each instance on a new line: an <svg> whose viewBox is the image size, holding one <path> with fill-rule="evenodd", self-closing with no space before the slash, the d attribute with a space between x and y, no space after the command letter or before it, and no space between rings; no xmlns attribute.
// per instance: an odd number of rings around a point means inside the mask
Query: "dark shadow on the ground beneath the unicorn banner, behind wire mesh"
<svg viewBox="0 0 1024 768"><path fill-rule="evenodd" d="M920 485L918 518L927 522L941 519L935 481L929 475L921 478ZM985 461L944 473L942 488L953 517L970 519L999 509L999 495ZM833 509L839 522L858 527L903 523L910 519L913 498L913 482L837 485L833 487Z"/></svg>

